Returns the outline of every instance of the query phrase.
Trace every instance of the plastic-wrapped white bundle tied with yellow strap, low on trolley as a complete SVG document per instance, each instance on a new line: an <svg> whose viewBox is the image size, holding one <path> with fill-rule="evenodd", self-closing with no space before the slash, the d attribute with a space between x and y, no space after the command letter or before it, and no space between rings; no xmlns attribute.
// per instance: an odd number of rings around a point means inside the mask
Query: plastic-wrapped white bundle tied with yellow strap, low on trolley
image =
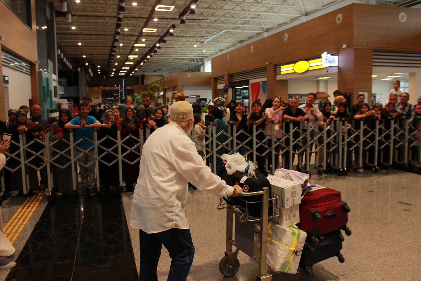
<svg viewBox="0 0 421 281"><path fill-rule="evenodd" d="M307 234L295 227L269 222L267 265L275 272L296 274Z"/></svg>

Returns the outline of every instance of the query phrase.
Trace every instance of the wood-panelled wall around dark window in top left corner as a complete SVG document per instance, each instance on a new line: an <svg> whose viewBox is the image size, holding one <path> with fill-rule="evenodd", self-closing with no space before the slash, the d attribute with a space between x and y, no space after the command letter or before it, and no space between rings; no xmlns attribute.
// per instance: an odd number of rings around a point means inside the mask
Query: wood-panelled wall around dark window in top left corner
<svg viewBox="0 0 421 281"><path fill-rule="evenodd" d="M37 61L37 29L35 22L35 0L31 0L32 29L24 24L3 2L0 1L0 35L2 49L27 62Z"/></svg>

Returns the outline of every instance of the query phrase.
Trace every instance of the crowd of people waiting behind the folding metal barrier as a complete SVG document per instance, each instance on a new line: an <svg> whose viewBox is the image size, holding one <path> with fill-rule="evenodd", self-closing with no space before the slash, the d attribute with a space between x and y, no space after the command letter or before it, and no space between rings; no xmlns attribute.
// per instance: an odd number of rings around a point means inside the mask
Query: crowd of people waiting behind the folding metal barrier
<svg viewBox="0 0 421 281"><path fill-rule="evenodd" d="M176 95L174 100L176 102L185 98L184 93L181 92ZM316 94L310 93L307 97L307 102L299 105L298 99L293 97L287 106L285 106L280 97L266 99L263 105L257 100L251 104L250 113L248 114L245 113L242 103L231 101L225 105L225 100L221 97L217 97L213 102L208 103L208 113L205 116L201 112L202 106L193 104L195 127L192 138L196 143L198 153L206 159L207 165L210 166L212 158L206 158L206 154L213 149L209 142L209 139L213 137L210 129L211 125L215 124L215 138L219 144L227 143L228 132L231 131L232 134L233 131L228 130L227 126L234 126L237 132L235 136L236 142L240 144L237 146L239 147L237 152L253 161L250 154L250 150L253 149L253 144L250 143L250 135L253 134L252 127L256 126L256 141L263 142L266 145L260 145L256 148L256 159L254 159L262 173L267 174L268 171L273 171L272 163L275 169L278 166L286 169L292 168L290 163L293 163L296 154L298 155L298 166L304 167L310 172L307 161L310 161L312 157L311 152L316 152L317 154L317 167L322 167L323 162L329 162L335 157L330 155L332 154L330 153L332 147L335 145L334 142L330 140L329 143L322 145L326 139L330 139L332 130L327 130L326 128L331 125L333 118L341 118L342 129L347 127L352 128L354 131L359 131L361 129L360 126L362 126L363 134L354 134L352 138L354 144L360 142L361 136L369 134L368 131L375 130L376 120L383 120L382 128L384 130L390 129L396 118L399 120L396 126L398 129L405 128L406 124L412 131L420 127L421 97L418 98L417 104L412 106L408 104L408 93L400 93L400 102L398 102L397 94L391 91L389 101L384 107L381 103L376 103L371 108L364 102L365 96L360 94L358 103L352 105L351 112L349 112L345 103L344 96L341 96L341 92L338 90L334 92L333 104L330 101L326 101L319 108L314 104L316 98ZM7 122L0 122L1 133L10 134L12 140L8 151L10 157L6 164L7 169L3 169L4 188L2 190L6 192L17 190L18 196L24 195L22 188L24 173L21 172L21 162L19 161L21 159L20 153L23 150L18 145L21 132L25 132L23 134L25 143L30 143L24 152L24 158L27 160L25 163L27 186L29 186L27 195L30 196L35 190L45 189L48 180L47 169L45 163L43 166L43 154L37 154L37 152L45 148L41 142L46 142L45 129L50 128L49 141L53 147L51 155L53 162L53 165L51 165L53 186L56 188L57 194L72 194L74 192L72 169L75 169L75 166L69 163L75 160L79 164L83 184L83 190L80 193L82 195L87 193L94 195L96 171L93 163L96 156L94 153L95 145L93 145L93 130L94 127L97 127L100 128L97 132L100 140L97 146L97 153L102 160L99 161L99 182L101 188L114 191L119 187L119 173L116 173L116 171L119 169L117 156L120 153L124 158L124 161L121 162L121 169L126 191L133 191L139 176L138 161L141 149L139 142L141 140L137 136L139 136L140 125L144 125L144 141L149 136L149 133L168 123L167 113L171 112L171 106L168 108L168 112L165 105L160 106L160 108L155 107L152 104L152 96L150 94L142 96L142 105L137 110L128 107L124 102L114 108L103 107L102 104L99 104L97 111L92 107L91 97L84 96L83 103L79 106L80 112L77 118L72 118L72 113L69 110L61 109L58 119L49 118L46 120L41 115L42 108L38 104L33 105L30 109L31 118L27 118L29 112L29 107L27 106L21 106L19 110L8 110L9 119ZM402 117L406 117L406 119ZM229 121L233 121L233 125L229 125ZM252 123L254 123L253 126L251 126ZM292 123L293 131L291 133L288 123ZM146 130L147 125L149 125L150 131L149 128ZM121 128L121 151L117 151L115 141L117 139L117 127ZM272 128L274 133L272 133ZM70 129L74 130L74 140L70 139ZM325 139L321 137L324 129L326 131ZM224 132L224 134L220 134L220 132ZM378 131L377 134L382 134L382 131ZM375 134L369 135L368 138L364 138L364 144L376 138ZM272 136L274 136L274 139L272 139ZM315 136L318 136L316 140L314 140ZM391 134L383 134L377 149L381 147L382 141L388 141L393 137ZM405 134L398 134L397 137L399 140L403 140ZM413 134L412 137L415 141L420 138L419 133ZM34 140L37 141L34 142ZM73 156L75 159L72 158L72 149L70 148L73 142L76 149L76 153ZM313 150L314 145L317 146L317 150ZM136 149L132 149L136 146ZM306 146L309 146L308 150L304 149ZM369 147L370 145L363 145L362 147L367 146ZM275 151L273 160L272 153L267 153L267 150L272 147L274 147ZM352 147L352 145L349 147ZM372 169L372 166L366 166L365 163L374 162L374 146L369 147L365 153L360 153L361 147L358 145L354 145L354 149L349 149L349 147L346 152L346 163L344 163L344 166L349 171L352 170L354 165L354 171L358 173L362 173L364 169ZM397 155L397 159L402 162L403 155L406 152L404 148L403 145L399 145L397 146L397 151L390 151L393 149L392 145L381 147L381 153L378 155L379 162L382 162L380 159L389 159L391 153ZM306 151L310 151L308 157L304 157ZM355 164L352 161L352 151ZM224 153L230 153L230 151L228 151L226 145L220 145L213 153L220 157ZM279 163L279 155L282 155L282 164ZM360 155L362 155L362 159L360 159ZM369 159L366 159L366 155L368 155ZM292 159L290 159L290 156L292 156ZM410 163L413 169L419 169L419 145L412 145L408 156L409 161L404 164ZM387 161L383 161L383 163L385 162ZM386 164L384 168L388 168L388 166ZM222 162L216 161L216 171L221 167ZM326 164L324 167L326 167ZM40 181L37 178L37 170L40 170ZM323 173L326 171L319 169L318 172Z"/></svg>

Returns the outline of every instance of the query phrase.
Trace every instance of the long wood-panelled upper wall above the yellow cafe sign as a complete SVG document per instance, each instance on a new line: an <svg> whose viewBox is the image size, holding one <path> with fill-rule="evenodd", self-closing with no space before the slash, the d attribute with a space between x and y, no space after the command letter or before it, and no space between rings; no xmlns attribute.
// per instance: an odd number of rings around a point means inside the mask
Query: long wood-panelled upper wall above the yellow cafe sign
<svg viewBox="0 0 421 281"><path fill-rule="evenodd" d="M320 56L323 52L335 52L342 44L353 47L354 9L348 5L326 13L316 19L306 21L282 32L275 33L256 42L244 45L212 59L212 76L218 77ZM336 15L341 13L343 20L336 23ZM288 33L288 40L284 34ZM253 46L253 52L251 47ZM229 59L228 59L229 58Z"/></svg>

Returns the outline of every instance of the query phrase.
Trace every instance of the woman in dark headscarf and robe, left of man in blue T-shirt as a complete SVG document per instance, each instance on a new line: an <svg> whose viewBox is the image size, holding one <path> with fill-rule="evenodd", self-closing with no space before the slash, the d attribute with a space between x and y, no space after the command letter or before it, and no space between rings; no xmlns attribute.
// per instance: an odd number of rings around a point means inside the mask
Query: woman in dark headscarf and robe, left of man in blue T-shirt
<svg viewBox="0 0 421 281"><path fill-rule="evenodd" d="M53 144L52 155L54 158L51 161L53 167L53 187L57 191L58 196L73 194L73 187L77 185L77 182L73 182L72 179L72 165L69 164L65 168L61 168L72 161L70 152L72 148L69 149L70 129L64 128L64 125L70 120L72 120L72 113L68 109L61 109L59 111L59 120L53 123L50 134L50 142ZM59 128L61 129L59 130Z"/></svg>

